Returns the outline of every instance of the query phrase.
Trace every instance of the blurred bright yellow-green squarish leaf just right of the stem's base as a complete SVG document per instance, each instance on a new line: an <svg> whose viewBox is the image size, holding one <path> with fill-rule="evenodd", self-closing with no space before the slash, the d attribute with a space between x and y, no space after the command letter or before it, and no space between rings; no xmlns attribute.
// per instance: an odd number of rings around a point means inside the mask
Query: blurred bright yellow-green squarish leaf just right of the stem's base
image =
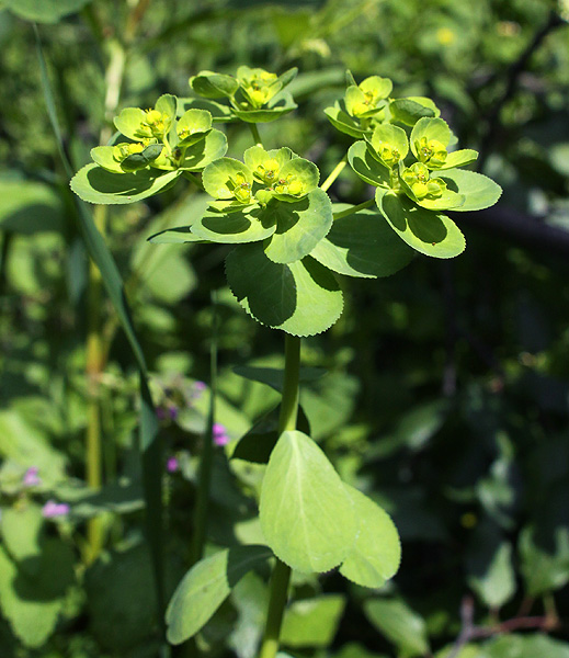
<svg viewBox="0 0 569 658"><path fill-rule="evenodd" d="M281 644L295 648L329 646L344 608L345 598L340 594L294 601L283 619Z"/></svg>

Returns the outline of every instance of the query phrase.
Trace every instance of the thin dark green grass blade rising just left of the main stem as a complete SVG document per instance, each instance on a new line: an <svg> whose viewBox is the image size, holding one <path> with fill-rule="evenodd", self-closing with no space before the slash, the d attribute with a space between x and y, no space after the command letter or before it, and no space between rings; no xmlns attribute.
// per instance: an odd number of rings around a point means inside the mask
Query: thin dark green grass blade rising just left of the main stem
<svg viewBox="0 0 569 658"><path fill-rule="evenodd" d="M212 293L212 307L214 309L212 328L212 348L209 352L209 410L207 415L207 429L204 436L204 449L200 463L200 481L197 498L194 508L194 533L192 542L192 564L201 560L204 554L207 537L207 518L209 504L209 488L212 484L212 466L214 463L214 420L215 398L217 389L217 298L215 291Z"/></svg>

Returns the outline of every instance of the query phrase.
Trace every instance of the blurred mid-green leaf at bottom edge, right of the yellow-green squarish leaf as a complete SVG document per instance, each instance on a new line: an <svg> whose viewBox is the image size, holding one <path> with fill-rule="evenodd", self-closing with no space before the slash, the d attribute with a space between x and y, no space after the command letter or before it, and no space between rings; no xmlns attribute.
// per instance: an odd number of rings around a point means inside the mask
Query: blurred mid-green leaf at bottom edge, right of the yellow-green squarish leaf
<svg viewBox="0 0 569 658"><path fill-rule="evenodd" d="M399 647L408 658L430 654L426 625L422 616L397 599L369 599L364 603L369 622Z"/></svg>

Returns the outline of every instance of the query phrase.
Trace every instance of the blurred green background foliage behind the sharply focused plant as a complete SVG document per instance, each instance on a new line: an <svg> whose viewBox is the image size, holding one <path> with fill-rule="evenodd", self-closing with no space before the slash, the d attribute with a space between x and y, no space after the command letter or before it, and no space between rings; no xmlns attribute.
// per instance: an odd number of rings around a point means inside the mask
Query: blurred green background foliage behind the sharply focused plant
<svg viewBox="0 0 569 658"><path fill-rule="evenodd" d="M305 365L327 371L312 372L303 390L312 435L346 481L390 512L403 561L380 591L334 572L296 577L283 644L315 658L567 658L567 2L1 0L0 8L2 657L160 650L135 363L105 295L92 293L42 92L36 21L75 169L110 137L112 109L153 106L164 92L187 97L191 75L235 73L239 65L299 68L291 86L298 111L262 126L263 139L312 159L325 175L349 144L322 113L343 93L346 68L359 80L391 78L397 95L432 97L462 146L480 150L480 169L504 194L496 208L462 214L466 252L452 263L417 258L389 280L344 281L341 320L304 342ZM229 155L240 156L249 133L225 129ZM369 193L346 172L331 194L357 203ZM216 449L212 547L259 540L260 467L228 457L278 400L263 383L266 371L243 379L234 367L282 366L280 333L243 314L225 287L225 247L146 242L203 207L187 183L106 214L105 239L152 373L167 456L175 458L163 475L169 591L190 559L214 315L216 420L229 443ZM93 316L103 342L94 394L86 350ZM100 490L86 476L93 395ZM46 518L50 500L68 513ZM96 559L86 548L93 518ZM240 582L200 650L254 656L265 582L265 574Z"/></svg>

